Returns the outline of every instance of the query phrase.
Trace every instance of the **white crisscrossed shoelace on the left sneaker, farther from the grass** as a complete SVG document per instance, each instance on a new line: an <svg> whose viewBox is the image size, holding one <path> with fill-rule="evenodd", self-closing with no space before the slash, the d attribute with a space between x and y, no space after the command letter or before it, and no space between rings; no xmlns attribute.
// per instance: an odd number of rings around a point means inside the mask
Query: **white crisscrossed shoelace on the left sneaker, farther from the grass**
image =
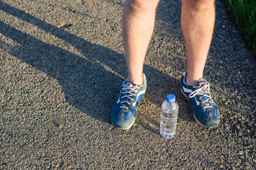
<svg viewBox="0 0 256 170"><path fill-rule="evenodd" d="M140 87L138 87L138 85L132 85L132 83L125 83L122 87L122 94L124 94L124 96L121 97L121 99L123 99L123 101L121 101L122 106L120 106L120 108L125 108L127 109L127 104L130 105L131 103L129 103L129 101L133 101L133 99L131 98L132 96L135 96L135 93L138 92L138 89L140 89ZM125 100L125 99L129 99L129 101Z"/></svg>

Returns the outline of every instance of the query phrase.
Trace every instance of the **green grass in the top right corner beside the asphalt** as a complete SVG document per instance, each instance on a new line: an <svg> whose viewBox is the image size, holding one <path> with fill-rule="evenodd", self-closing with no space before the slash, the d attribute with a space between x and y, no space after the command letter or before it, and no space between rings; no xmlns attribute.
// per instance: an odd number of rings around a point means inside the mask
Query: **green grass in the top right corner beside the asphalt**
<svg viewBox="0 0 256 170"><path fill-rule="evenodd" d="M256 1L228 0L237 25L244 33L248 45L256 55Z"/></svg>

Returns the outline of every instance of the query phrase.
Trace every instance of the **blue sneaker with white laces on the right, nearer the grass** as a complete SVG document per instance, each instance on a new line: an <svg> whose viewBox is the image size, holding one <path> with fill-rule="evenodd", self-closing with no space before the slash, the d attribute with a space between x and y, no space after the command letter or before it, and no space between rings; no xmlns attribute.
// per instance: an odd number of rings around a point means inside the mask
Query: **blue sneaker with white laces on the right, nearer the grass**
<svg viewBox="0 0 256 170"><path fill-rule="evenodd" d="M220 111L211 96L210 85L201 78L195 84L188 83L187 72L180 80L180 90L190 101L193 116L202 127L217 127L220 124Z"/></svg>

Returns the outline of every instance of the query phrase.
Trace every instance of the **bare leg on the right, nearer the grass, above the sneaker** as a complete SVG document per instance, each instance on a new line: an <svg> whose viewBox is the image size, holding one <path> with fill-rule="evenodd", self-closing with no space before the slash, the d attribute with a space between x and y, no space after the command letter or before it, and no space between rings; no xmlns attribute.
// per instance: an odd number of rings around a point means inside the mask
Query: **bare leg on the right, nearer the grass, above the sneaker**
<svg viewBox="0 0 256 170"><path fill-rule="evenodd" d="M189 83L203 76L214 20L214 0L182 0L181 27L186 41Z"/></svg>

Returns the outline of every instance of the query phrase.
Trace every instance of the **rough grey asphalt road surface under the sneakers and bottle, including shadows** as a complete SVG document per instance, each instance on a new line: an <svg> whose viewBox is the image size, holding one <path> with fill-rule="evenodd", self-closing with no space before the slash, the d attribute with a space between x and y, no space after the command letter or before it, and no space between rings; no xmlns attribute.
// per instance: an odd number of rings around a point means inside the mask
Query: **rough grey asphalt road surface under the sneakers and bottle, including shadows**
<svg viewBox="0 0 256 170"><path fill-rule="evenodd" d="M255 169L256 58L216 1L204 77L220 127L196 124L180 94L180 1L161 0L145 59L148 90L129 131L110 110L127 76L118 0L0 1L0 169ZM175 94L177 134L159 134Z"/></svg>

